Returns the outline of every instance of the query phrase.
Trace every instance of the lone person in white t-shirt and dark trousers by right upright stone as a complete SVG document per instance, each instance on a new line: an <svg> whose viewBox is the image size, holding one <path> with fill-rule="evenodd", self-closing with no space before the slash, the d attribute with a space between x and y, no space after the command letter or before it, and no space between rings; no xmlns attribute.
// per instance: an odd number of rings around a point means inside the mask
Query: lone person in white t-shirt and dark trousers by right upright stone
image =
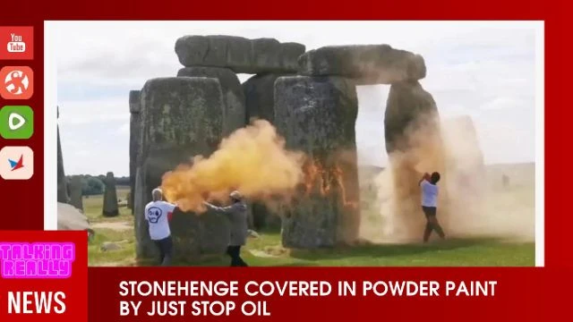
<svg viewBox="0 0 573 322"><path fill-rule="evenodd" d="M441 239L446 236L438 223L436 216L438 209L438 192L439 188L437 183L440 181L440 174L434 172L432 175L423 174L420 180L420 188L422 189L422 211L426 216L426 228L423 231L423 242L428 242L432 231L436 231Z"/></svg>

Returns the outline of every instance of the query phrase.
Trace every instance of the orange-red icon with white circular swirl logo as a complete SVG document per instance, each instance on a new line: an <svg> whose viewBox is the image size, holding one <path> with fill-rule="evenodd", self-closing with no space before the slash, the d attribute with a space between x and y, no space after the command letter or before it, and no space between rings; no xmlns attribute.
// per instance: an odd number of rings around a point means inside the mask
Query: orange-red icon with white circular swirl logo
<svg viewBox="0 0 573 322"><path fill-rule="evenodd" d="M34 93L34 72L26 66L6 66L0 70L0 96L4 99L30 99Z"/></svg>

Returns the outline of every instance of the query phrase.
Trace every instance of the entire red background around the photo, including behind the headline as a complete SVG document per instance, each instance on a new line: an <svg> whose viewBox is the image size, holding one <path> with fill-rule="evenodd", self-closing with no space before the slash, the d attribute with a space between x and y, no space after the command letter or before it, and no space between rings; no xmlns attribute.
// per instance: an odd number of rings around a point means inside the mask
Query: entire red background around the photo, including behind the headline
<svg viewBox="0 0 573 322"><path fill-rule="evenodd" d="M118 317L117 282L129 279L496 279L493 298L282 298L268 299L272 320L372 318L395 320L553 320L569 319L569 290L573 280L573 246L569 231L569 81L571 64L565 62L569 25L564 2L454 0L270 2L270 1L111 1L71 0L39 2L4 1L3 25L33 25L36 92L31 103L36 117L28 144L43 155L43 21L45 20L540 20L545 21L545 265L544 268L90 268L90 320L135 321ZM383 35L381 35L383 42ZM0 62L5 64L6 62ZM3 101L3 105L13 102ZM49 106L56 122L56 106ZM567 129L567 131L566 131ZM5 140L1 141L4 146ZM522 143L532 144L532 143ZM567 147L567 148L563 148ZM53 169L56 171L56 169ZM565 177L563 176L565 174ZM541 183L541 182L539 182ZM56 189L56 182L53 183ZM0 229L41 229L43 226L43 166L35 165L29 182L2 182L3 219ZM30 202L33 198L34 202ZM85 287L77 284L75 287ZM78 308L81 308L79 306ZM0 313L1 314L1 313ZM563 318L552 318L563 314ZM158 318L156 318L157 320ZM166 318L161 318L166 319ZM186 317L184 320L194 319ZM212 319L212 318L211 318ZM235 319L235 318L234 318ZM249 318L250 320L256 318ZM144 320L144 319L143 319ZM170 318L175 320L175 318ZM80 318L77 321L81 321Z"/></svg>

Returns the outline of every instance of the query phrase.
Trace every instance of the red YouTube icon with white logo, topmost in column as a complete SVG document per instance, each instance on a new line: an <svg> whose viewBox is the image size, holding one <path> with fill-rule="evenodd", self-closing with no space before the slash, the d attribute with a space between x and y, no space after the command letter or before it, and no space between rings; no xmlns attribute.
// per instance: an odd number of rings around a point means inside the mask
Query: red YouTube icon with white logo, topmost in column
<svg viewBox="0 0 573 322"><path fill-rule="evenodd" d="M33 27L0 27L0 60L34 59Z"/></svg>

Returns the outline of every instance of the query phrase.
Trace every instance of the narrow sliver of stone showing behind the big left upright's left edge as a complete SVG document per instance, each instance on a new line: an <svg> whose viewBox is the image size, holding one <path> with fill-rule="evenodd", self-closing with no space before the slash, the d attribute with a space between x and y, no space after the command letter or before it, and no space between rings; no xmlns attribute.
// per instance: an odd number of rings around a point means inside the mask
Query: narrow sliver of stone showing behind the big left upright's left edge
<svg viewBox="0 0 573 322"><path fill-rule="evenodd" d="M140 104L140 91L130 90L129 92L129 183L130 193L127 203L132 209L133 215L133 199L135 196L135 170L137 165L137 153L141 144L141 104Z"/></svg>

